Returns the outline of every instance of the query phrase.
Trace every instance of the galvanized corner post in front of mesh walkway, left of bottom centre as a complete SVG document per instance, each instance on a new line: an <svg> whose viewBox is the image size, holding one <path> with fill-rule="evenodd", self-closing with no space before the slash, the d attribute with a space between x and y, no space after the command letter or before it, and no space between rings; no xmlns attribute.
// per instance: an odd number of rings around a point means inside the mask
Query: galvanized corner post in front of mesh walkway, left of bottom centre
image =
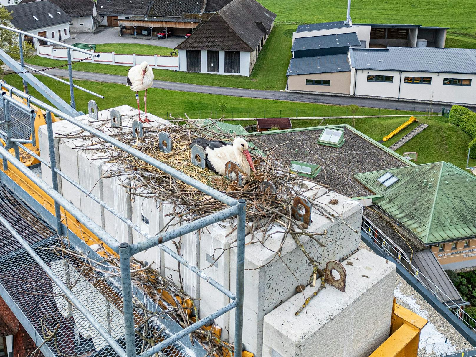
<svg viewBox="0 0 476 357"><path fill-rule="evenodd" d="M122 303L124 308L124 327L126 330L126 353L127 357L136 357L136 332L134 330L134 307L132 305L130 257L129 244L126 242L119 244L120 281L122 287Z"/></svg>

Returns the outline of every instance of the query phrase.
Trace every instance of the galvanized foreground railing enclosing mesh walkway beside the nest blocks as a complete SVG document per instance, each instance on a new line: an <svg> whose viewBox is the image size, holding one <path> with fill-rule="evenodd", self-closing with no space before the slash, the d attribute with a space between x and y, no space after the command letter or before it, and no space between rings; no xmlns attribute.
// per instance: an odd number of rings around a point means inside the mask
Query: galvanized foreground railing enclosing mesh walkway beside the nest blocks
<svg viewBox="0 0 476 357"><path fill-rule="evenodd" d="M7 94L6 91L9 93ZM57 284L63 293L71 300L71 303L86 317L91 325L97 329L99 334L108 341L109 345L118 353L121 357L149 357L156 353L158 353L163 348L170 346L171 344L177 342L181 338L187 336L191 332L197 330L200 327L208 325L212 323L214 319L217 317L227 313L228 311L236 308L235 312L235 341L234 341L234 353L235 356L241 356L242 351L242 325L243 325L243 280L244 280L244 256L245 256L245 225L246 225L246 213L245 213L245 200L236 200L227 196L226 194L211 188L202 182L190 178L184 173L173 169L164 163L160 162L157 159L153 159L148 155L140 152L137 149L134 149L117 139L110 137L109 135L104 134L102 131L98 129L92 128L89 125L79 121L78 119L74 119L73 117L61 112L58 109L53 108L52 106L36 99L32 96L29 96L23 93L21 90L16 89L9 84L6 83L5 80L0 80L0 92L2 97L2 105L3 105L3 113L4 113L4 124L5 124L5 131L0 131L0 136L6 143L5 147L0 146L0 156L3 158L3 169L8 169L8 165L11 164L15 168L17 168L23 175L33 181L41 190L43 190L46 194L48 194L54 200L55 206L55 216L56 216L56 224L55 228L59 235L62 235L63 232L63 225L62 225L62 217L61 217L61 210L62 207L66 211L68 211L73 217L75 217L80 223L82 223L86 228L89 229L97 238L99 238L102 242L104 242L109 248L111 248L114 252L119 255L120 259L120 285L121 285L121 292L122 292L122 302L123 302L123 313L124 313L124 325L125 325L125 335L126 335L126 350L124 351L117 343L115 343L114 338L100 326L100 324L92 317L88 310L81 304L77 304L75 302L74 295L69 291L69 289L63 287L60 281L56 281L56 279L51 276L51 272L48 271L48 267L45 266L38 260L38 257L35 257L34 254L31 254L31 251L28 249L28 245L25 246L25 242L21 239L20 234L18 234L11 226L5 224L4 220L0 217L0 222L5 225L12 233L12 235L19 240L19 242L24 246L24 248L29 251L30 255L39 262L40 266L45 269L48 275L52 277L55 284ZM15 101L12 97L13 95L20 97L21 99L26 99L27 104L19 101ZM38 156L35 152L28 149L25 143L30 143L32 140L24 140L14 138L12 136L12 121L10 117L10 106L15 106L25 113L32 114L32 109L30 108L29 104L33 104L38 108L41 108L46 111L46 126L47 126L47 133L48 133L48 140L49 140L49 151L50 151L50 160L47 161L44 158ZM115 148L124 151L134 157L154 166L157 169L162 170L163 172L169 174L170 176L181 180L188 184L191 187L197 188L199 191L203 192L206 195L209 195L213 198L216 198L222 203L228 205L228 208L222 209L221 211L215 212L213 214L208 215L207 217L199 218L195 221L189 222L180 226L179 228L174 228L169 230L165 233L161 233L159 235L149 235L144 230L142 230L139 226L134 224L130 219L124 217L120 212L115 210L114 208L109 207L104 201L92 195L89 190L82 187L78 182L74 181L72 178L69 178L64 172L58 169L56 164L56 153L55 153L55 144L54 144L54 137L53 137L53 125L51 120L51 114L58 116L70 123L76 125L78 128L85 130L86 132L92 134L93 136L102 139L109 144L113 145ZM34 138L34 125L31 127L32 135ZM9 152L9 149L14 149L15 155L12 155ZM20 162L19 152L20 149L25 150L34 158L38 159L42 164L46 165L51 170L52 176L52 187L50 187L45 181L35 175L29 168L24 166ZM83 212L81 212L78 208L76 208L71 202L69 202L66 198L64 198L58 191L59 183L58 183L58 176L64 178L73 186L78 188L84 193L87 193L90 198L96 201L100 206L107 209L111 212L114 216L118 217L122 220L128 227L136 230L140 235L142 235L145 239L139 241L138 243L129 244L129 243L120 243L112 237L108 232L106 232L103 228L101 228L98 224L96 224L91 218L86 216ZM238 217L237 223L237 250L236 250L236 292L233 293L227 288L223 287L214 279L208 277L205 273L203 273L198 267L194 266L184 258L182 258L177 253L173 252L169 248L165 247L163 244L174 239L181 237L187 233L194 232L200 228L204 228L210 224L222 221L227 218ZM162 251L169 254L170 257L176 259L178 262L183 264L184 267L188 268L192 272L198 275L198 277L202 278L214 288L217 288L220 292L225 294L229 297L232 302L228 305L221 307L214 313L208 315L207 317L203 317L199 319L194 324L184 328L179 333L172 335L166 338L164 341L158 343L154 347L149 348L147 351L141 353L140 355L136 354L136 342L135 342L135 328L134 328L134 315L133 315L133 303L132 303L132 283L131 283L131 271L130 271L130 262L129 259L142 251L145 251L149 248L158 246ZM64 285L64 284L63 284Z"/></svg>

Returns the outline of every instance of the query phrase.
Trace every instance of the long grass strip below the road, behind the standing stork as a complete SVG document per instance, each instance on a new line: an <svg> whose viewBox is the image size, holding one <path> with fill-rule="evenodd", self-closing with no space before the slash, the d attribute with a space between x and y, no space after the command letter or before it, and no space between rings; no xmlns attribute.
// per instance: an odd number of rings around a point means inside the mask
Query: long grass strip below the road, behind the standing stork
<svg viewBox="0 0 476 357"><path fill-rule="evenodd" d="M69 90L66 84L61 84L53 79L43 76L37 76L43 83L50 88L55 88L55 92L61 98L69 102ZM21 79L16 75L5 76L7 83L17 88L21 88ZM99 83L92 81L76 80L75 83L81 87L92 90L105 96L105 99L93 97L88 93L75 89L75 100L78 103L78 109L87 111L89 99L96 100L99 108L112 108L122 104L128 104L132 107L137 106L134 93L125 85L113 83ZM32 95L40 98L38 93L31 90ZM148 91L147 107L149 112L167 119L167 113L172 116L184 116L184 113L190 118L209 118L210 113L213 118L220 118L224 115L226 118L256 118L256 117L307 117L307 116L345 116L346 106L334 106L325 104L301 103L284 100L252 99L238 98L214 94L188 93L166 89L150 88ZM141 106L143 107L143 99ZM218 104L224 102L227 105L227 111L220 113ZM364 115L394 115L395 110L391 109L373 109L361 108L359 114ZM348 112L350 113L350 111ZM279 115L281 114L281 115ZM397 114L411 115L411 112L398 111Z"/></svg>

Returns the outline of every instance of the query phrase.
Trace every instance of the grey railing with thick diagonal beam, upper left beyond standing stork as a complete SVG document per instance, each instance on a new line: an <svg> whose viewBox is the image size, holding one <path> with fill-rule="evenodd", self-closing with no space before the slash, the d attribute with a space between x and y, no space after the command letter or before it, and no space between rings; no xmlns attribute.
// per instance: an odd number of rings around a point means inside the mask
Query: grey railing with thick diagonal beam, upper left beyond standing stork
<svg viewBox="0 0 476 357"><path fill-rule="evenodd" d="M83 54L88 55L89 57L99 57L100 54L92 53L92 52L87 51L87 50L83 50L83 49L80 49L80 48L77 48L77 47L73 47L73 46L65 44L65 43L61 43L61 42L58 42L58 41L55 41L55 40L44 38L44 37L32 34L30 32L14 29L14 28L4 26L4 25L0 25L0 29L4 29L4 30L8 30L8 31L11 31L11 32L18 33L20 62L17 62L15 60L13 60L3 50L0 50L0 59L2 61L4 61L11 69L13 69L15 71L15 73L19 74L22 77L23 87L25 89L25 93L28 94L28 83L30 83L42 95L44 95L47 99L49 99L50 102L53 103L56 107L60 108L62 111L66 112L66 113L68 113L69 115L72 115L72 116L78 116L78 115L81 114L81 113L76 111L76 101L74 99L74 89L75 88L79 89L79 90L82 90L86 93L89 93L91 95L94 95L96 97L104 98L102 95L100 95L98 93L95 93L95 92L93 92L89 89L82 88L82 87L73 83L72 64L74 62L72 62L73 58L72 58L72 52L71 51L78 51L78 52L81 52ZM55 68L68 66L69 81L65 81L63 79L60 79L60 78L52 76L48 73L45 73L44 69L35 70L31 66L25 65L25 63L24 63L24 53L23 53L24 52L23 43L24 43L24 37L25 36L28 36L30 38L37 39L37 40L40 40L40 41L48 42L48 43L51 43L55 46L60 46L60 47L63 47L65 49L67 49L68 63L66 65L56 66ZM80 59L78 61L82 61L82 60L85 60L85 59ZM78 62L78 61L76 61L76 62ZM28 69L30 69L30 70L28 70ZM43 74L43 75L45 75L45 76L47 76L51 79L58 80L61 83L69 84L69 98L70 98L69 104L64 102L63 99L61 99L59 96L55 95L52 91L48 90L47 87L44 84L42 84L40 81L34 80L34 77L31 75L31 73L35 72L35 71L38 71L38 73L41 73L41 74ZM70 109L72 109L72 110L69 110L69 108L66 107L66 106L69 106Z"/></svg>

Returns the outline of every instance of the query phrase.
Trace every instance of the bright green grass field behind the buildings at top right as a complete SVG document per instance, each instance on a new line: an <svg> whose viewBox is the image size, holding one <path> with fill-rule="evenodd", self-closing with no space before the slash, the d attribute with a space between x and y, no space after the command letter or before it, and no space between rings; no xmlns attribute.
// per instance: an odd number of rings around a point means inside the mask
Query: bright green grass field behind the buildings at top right
<svg viewBox="0 0 476 357"><path fill-rule="evenodd" d="M347 1L258 0L278 14L277 22L314 23L346 19ZM476 7L465 0L352 0L354 23L411 23L449 27L452 33L476 36Z"/></svg>

